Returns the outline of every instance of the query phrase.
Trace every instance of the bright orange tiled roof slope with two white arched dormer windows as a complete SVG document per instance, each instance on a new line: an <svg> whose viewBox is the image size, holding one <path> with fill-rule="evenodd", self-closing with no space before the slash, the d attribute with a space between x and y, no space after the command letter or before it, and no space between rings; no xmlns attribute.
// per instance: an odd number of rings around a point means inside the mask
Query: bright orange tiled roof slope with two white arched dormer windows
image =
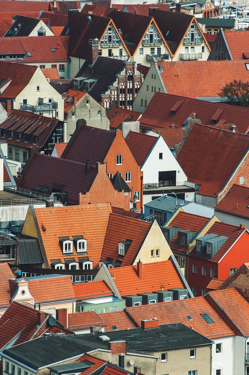
<svg viewBox="0 0 249 375"><path fill-rule="evenodd" d="M59 238L69 237L72 240L72 236L83 236L87 239L89 261L93 262L93 268L99 266L111 213L110 204L35 208L34 211L49 264L52 259L65 263L65 259L74 258L78 262L84 255L77 254L74 246L73 255L63 255Z"/></svg>

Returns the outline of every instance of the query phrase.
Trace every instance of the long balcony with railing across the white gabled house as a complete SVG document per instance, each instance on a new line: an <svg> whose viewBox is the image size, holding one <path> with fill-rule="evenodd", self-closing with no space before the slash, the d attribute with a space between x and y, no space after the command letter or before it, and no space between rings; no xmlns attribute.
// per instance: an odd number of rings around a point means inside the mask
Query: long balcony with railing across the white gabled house
<svg viewBox="0 0 249 375"><path fill-rule="evenodd" d="M159 181L159 183L144 184L144 194L156 193L184 193L195 191L195 183L190 181L180 181L175 184L169 184L169 181Z"/></svg>

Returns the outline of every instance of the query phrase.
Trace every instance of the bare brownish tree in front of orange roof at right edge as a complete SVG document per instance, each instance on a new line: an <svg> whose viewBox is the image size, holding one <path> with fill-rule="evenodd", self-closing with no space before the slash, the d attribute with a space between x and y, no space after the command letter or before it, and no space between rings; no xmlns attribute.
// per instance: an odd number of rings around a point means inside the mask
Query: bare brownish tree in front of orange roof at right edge
<svg viewBox="0 0 249 375"><path fill-rule="evenodd" d="M227 104L249 107L249 82L234 80L224 86L218 95L227 98Z"/></svg>

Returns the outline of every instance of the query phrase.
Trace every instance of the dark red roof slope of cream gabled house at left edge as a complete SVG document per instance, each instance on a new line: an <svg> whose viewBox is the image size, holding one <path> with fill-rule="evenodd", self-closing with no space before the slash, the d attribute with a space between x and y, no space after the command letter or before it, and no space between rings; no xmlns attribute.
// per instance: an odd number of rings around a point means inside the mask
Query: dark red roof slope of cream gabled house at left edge
<svg viewBox="0 0 249 375"><path fill-rule="evenodd" d="M39 36L41 38L41 36ZM7 39L7 38L1 38ZM36 69L39 69L37 66L31 66L26 64L12 64L5 61L0 61L0 81L3 78L7 80L10 79L11 82L9 86L1 93L1 98L10 98L15 99L17 95L27 86L31 78L34 75ZM1 90L1 86L0 86Z"/></svg>

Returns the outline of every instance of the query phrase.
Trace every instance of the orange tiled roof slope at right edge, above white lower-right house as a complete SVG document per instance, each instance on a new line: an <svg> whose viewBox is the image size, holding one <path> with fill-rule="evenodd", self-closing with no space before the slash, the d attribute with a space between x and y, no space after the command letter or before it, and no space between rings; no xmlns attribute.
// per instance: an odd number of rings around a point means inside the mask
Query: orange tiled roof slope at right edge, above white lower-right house
<svg viewBox="0 0 249 375"><path fill-rule="evenodd" d="M209 292L245 336L249 335L249 303L236 289Z"/></svg>

